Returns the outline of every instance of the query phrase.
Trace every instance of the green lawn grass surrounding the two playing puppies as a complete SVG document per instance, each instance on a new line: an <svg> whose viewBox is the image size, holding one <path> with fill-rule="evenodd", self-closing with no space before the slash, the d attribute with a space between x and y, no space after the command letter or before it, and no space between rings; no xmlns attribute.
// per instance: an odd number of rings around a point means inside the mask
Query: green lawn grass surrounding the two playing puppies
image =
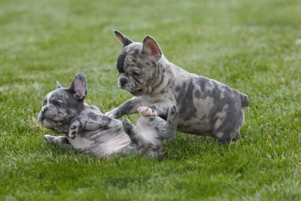
<svg viewBox="0 0 301 201"><path fill-rule="evenodd" d="M0 7L1 200L300 200L301 1L9 1ZM77 72L106 112L117 29L249 95L238 142L177 134L162 162L86 157L43 141L44 95ZM129 117L134 122L138 116Z"/></svg>

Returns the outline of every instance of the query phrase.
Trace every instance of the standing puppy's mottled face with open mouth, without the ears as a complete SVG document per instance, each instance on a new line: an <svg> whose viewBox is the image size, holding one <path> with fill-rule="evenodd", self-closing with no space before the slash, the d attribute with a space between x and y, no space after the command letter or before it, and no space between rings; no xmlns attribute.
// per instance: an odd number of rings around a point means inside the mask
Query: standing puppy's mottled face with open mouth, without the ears
<svg viewBox="0 0 301 201"><path fill-rule="evenodd" d="M152 91L152 83L158 77L157 62L142 50L142 43L125 46L117 58L118 87L140 96Z"/></svg>

